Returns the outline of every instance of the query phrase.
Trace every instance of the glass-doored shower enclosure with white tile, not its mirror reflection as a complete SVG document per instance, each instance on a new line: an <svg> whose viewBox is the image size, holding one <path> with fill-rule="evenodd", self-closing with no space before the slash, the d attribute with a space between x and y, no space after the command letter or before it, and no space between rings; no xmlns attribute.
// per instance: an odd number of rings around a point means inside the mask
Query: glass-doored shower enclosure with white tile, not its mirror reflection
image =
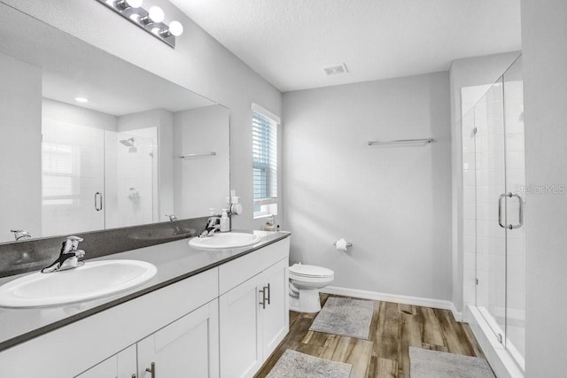
<svg viewBox="0 0 567 378"><path fill-rule="evenodd" d="M523 368L524 195L534 188L525 186L522 58L493 85L463 88L463 110L479 91L462 118L464 268L474 270L465 300Z"/></svg>

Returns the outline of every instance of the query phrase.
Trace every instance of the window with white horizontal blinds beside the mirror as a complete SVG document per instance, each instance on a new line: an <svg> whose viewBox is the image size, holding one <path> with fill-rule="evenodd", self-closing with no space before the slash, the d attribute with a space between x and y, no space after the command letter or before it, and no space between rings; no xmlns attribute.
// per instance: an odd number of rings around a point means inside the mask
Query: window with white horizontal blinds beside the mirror
<svg viewBox="0 0 567 378"><path fill-rule="evenodd" d="M277 213L277 125L279 117L252 104L254 218Z"/></svg>

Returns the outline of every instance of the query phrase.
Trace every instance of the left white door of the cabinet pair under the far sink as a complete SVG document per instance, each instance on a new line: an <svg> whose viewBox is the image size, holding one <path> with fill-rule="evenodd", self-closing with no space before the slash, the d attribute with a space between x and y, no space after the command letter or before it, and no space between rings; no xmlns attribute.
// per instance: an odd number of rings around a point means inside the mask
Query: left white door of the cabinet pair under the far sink
<svg viewBox="0 0 567 378"><path fill-rule="evenodd" d="M219 298L221 377L250 377L262 365L256 275Z"/></svg>

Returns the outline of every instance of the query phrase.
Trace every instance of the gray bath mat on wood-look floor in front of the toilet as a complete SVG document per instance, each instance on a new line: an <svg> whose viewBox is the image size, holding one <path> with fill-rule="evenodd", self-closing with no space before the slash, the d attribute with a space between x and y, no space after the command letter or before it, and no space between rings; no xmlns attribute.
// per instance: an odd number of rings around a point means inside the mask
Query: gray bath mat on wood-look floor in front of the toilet
<svg viewBox="0 0 567 378"><path fill-rule="evenodd" d="M373 312L373 301L330 297L309 330L368 340Z"/></svg>

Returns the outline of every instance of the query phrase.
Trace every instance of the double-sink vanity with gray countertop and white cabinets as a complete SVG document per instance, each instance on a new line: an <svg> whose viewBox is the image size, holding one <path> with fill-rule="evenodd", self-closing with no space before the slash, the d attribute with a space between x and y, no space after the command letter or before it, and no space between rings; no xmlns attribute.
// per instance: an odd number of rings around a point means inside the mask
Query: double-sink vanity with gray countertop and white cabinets
<svg viewBox="0 0 567 378"><path fill-rule="evenodd" d="M0 297L10 285L16 297L0 307L2 374L252 376L289 331L289 236L182 239L87 260L39 283L34 274L1 279ZM97 289L103 294L78 298Z"/></svg>

